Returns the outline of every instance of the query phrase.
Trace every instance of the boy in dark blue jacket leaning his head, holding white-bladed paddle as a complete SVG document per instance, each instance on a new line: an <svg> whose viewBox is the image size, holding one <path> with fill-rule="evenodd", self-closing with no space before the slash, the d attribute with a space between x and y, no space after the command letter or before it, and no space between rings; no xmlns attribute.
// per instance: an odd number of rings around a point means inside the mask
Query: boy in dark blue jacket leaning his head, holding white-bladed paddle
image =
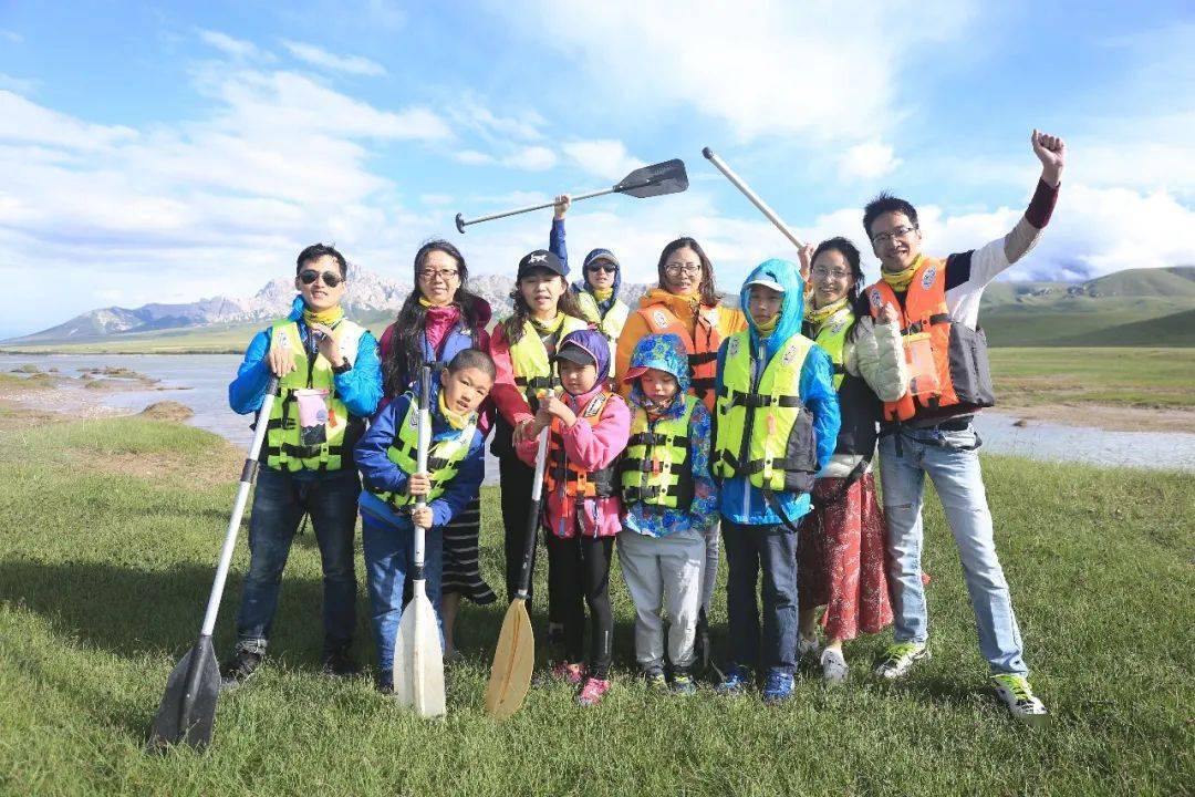
<svg viewBox="0 0 1195 797"><path fill-rule="evenodd" d="M489 396L495 376L490 355L478 349L461 349L440 373L441 388L431 391L429 473L416 472L419 407L410 392L387 404L357 445L357 467L366 485L361 540L378 646L378 688L385 693L393 689L394 637L403 615L403 584L415 550L415 526L429 532L424 574L428 597L443 630L440 532L482 489L485 435L477 425L477 407ZM422 508L415 507L418 498L425 501Z"/></svg>

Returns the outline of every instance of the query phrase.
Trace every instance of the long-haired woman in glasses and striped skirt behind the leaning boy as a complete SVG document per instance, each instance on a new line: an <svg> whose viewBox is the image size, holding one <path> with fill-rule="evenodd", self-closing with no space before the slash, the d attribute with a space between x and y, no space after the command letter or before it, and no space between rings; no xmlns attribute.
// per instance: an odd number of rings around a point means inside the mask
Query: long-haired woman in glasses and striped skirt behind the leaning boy
<svg viewBox="0 0 1195 797"><path fill-rule="evenodd" d="M415 386L423 364L430 364L437 374L431 380L435 397L440 387L439 372L458 351L489 348L485 326L490 323L490 305L472 293L467 282L465 257L448 241L428 241L415 253L415 289L407 294L398 318L386 327L379 342L386 388L379 411ZM483 433L489 433L491 412L486 400L479 412L478 425ZM453 642L453 626L461 596L480 605L497 600L477 564L480 525L480 497L474 497L443 529L445 661L460 656Z"/></svg>

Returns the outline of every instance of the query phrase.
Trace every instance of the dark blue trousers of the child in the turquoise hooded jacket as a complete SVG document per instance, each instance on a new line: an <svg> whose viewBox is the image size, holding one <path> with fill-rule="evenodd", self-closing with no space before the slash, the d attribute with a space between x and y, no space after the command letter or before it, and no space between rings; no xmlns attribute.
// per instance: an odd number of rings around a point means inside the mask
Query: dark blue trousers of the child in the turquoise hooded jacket
<svg viewBox="0 0 1195 797"><path fill-rule="evenodd" d="M760 621L755 586L762 570L762 664L792 675L797 666L797 535L783 526L740 526L722 519L727 552L730 663L758 669Z"/></svg>

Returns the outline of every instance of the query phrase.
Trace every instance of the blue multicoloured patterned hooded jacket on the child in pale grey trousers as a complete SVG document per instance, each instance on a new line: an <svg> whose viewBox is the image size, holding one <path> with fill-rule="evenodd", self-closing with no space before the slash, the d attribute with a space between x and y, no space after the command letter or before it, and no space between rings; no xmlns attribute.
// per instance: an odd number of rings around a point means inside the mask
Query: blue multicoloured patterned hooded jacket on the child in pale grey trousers
<svg viewBox="0 0 1195 797"><path fill-rule="evenodd" d="M655 368L676 378L678 391L673 403L660 413L663 418L679 418L685 413L685 396L688 393L688 355L685 343L675 335L649 335L639 341L631 355L630 368ZM631 385L631 412L644 412L644 396L639 380ZM693 407L688 419L690 468L693 474L693 503L688 507L666 509L663 513L645 511L641 503L626 507L623 522L629 532L648 537L681 534L700 537L701 532L717 522L718 489L710 476L710 411L700 401Z"/></svg>

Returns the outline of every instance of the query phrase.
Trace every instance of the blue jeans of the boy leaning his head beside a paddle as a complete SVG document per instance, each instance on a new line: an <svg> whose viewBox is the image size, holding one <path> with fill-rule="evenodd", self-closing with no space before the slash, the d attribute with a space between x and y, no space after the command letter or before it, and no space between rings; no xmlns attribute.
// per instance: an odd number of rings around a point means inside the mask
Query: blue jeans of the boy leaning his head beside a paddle
<svg viewBox="0 0 1195 797"><path fill-rule="evenodd" d="M361 542L366 557L366 583L373 606L374 644L378 648L378 668L394 669L394 637L403 618L403 584L415 556L415 529L399 528L370 514L361 515ZM443 568L443 534L440 529L424 534L423 575L428 599L436 609L440 623L440 644L443 644L445 621L440 613L440 576Z"/></svg>

